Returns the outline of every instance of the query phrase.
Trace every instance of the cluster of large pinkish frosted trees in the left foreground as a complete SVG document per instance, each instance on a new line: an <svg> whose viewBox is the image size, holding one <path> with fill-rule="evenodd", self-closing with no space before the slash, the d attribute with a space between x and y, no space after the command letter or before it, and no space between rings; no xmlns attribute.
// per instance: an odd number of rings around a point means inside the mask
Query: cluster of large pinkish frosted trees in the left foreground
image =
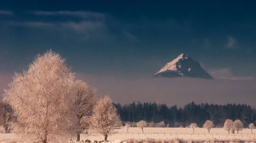
<svg viewBox="0 0 256 143"><path fill-rule="evenodd" d="M28 142L60 142L86 129L108 135L121 120L109 96L98 98L96 90L75 76L65 59L53 51L38 55L27 71L15 73L5 90L3 125ZM9 118L10 117L10 118Z"/></svg>

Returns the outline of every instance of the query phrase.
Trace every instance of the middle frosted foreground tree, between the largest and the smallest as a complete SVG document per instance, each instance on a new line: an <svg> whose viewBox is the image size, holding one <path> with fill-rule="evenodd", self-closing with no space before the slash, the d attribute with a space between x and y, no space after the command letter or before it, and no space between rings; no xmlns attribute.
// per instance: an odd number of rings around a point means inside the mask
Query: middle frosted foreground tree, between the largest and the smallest
<svg viewBox="0 0 256 143"><path fill-rule="evenodd" d="M92 116L93 107L97 103L97 92L91 89L86 83L81 80L75 81L74 97L72 111L75 113L73 116L73 123L76 131L76 140L80 141L80 134L89 128L89 119Z"/></svg>

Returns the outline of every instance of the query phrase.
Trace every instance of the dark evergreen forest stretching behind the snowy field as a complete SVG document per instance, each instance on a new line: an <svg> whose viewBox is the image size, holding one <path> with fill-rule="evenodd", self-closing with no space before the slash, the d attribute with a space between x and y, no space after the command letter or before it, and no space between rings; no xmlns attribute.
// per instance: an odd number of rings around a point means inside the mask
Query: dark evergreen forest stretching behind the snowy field
<svg viewBox="0 0 256 143"><path fill-rule="evenodd" d="M183 108L176 105L168 107L166 104L158 103L130 103L129 105L115 104L122 122L164 122L170 127L187 127L191 123L197 123L203 127L206 120L211 120L215 127L223 127L226 119L240 119L244 127L250 123L256 123L256 109L250 105L213 105L194 102L188 103Z"/></svg>

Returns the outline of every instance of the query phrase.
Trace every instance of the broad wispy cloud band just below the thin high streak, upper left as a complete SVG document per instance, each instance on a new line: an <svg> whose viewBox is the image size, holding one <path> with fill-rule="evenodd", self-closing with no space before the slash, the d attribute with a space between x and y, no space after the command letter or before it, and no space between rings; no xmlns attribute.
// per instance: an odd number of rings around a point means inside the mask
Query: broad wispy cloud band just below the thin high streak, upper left
<svg viewBox="0 0 256 143"><path fill-rule="evenodd" d="M6 27L24 27L40 29L48 33L55 32L64 38L76 37L81 41L116 41L115 36L109 32L104 21L82 20L80 22L34 22L34 21L7 21L0 22Z"/></svg>

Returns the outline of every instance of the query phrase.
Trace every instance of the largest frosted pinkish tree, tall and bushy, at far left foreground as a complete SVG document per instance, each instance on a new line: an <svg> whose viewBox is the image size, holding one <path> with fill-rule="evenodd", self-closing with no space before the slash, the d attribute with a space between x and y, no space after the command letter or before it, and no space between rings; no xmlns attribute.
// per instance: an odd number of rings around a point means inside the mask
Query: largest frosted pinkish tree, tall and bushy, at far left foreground
<svg viewBox="0 0 256 143"><path fill-rule="evenodd" d="M15 73L3 101L17 116L17 135L28 142L43 143L71 136L73 79L65 59L51 50L38 55L27 71Z"/></svg>

